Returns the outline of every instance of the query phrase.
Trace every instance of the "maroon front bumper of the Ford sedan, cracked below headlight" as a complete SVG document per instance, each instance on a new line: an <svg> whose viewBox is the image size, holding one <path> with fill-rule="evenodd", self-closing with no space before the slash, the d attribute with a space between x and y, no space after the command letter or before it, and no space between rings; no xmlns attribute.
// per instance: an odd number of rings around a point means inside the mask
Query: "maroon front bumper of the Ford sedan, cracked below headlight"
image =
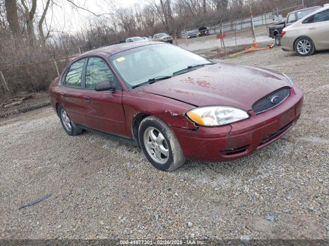
<svg viewBox="0 0 329 246"><path fill-rule="evenodd" d="M223 127L199 127L198 130L172 127L188 159L227 161L249 155L289 131L299 119L303 93L295 87L276 108Z"/></svg>

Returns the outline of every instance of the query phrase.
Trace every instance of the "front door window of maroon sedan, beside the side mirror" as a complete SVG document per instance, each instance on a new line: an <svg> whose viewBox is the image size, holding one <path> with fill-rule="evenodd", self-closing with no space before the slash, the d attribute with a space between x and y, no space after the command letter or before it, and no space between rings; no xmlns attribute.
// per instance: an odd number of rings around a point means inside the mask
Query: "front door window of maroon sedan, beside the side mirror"
<svg viewBox="0 0 329 246"><path fill-rule="evenodd" d="M103 81L113 83L113 73L102 58L89 57L86 68L86 88L95 88Z"/></svg>

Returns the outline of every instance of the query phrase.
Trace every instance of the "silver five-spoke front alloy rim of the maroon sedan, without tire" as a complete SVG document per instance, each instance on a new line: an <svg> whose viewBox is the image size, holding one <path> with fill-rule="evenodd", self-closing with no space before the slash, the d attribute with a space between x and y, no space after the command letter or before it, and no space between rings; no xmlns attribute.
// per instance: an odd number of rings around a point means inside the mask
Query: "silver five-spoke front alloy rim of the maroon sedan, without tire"
<svg viewBox="0 0 329 246"><path fill-rule="evenodd" d="M154 127L148 127L143 134L144 146L151 158L165 164L169 158L169 147L163 134Z"/></svg>

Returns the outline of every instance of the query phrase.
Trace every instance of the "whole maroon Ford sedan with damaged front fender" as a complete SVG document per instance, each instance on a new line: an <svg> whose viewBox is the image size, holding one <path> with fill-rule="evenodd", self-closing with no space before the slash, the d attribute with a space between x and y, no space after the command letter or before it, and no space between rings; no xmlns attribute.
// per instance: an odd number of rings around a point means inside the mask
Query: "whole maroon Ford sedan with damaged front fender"
<svg viewBox="0 0 329 246"><path fill-rule="evenodd" d="M67 134L86 129L135 142L167 171L185 158L227 161L259 150L296 124L303 103L282 73L156 42L84 53L49 92Z"/></svg>

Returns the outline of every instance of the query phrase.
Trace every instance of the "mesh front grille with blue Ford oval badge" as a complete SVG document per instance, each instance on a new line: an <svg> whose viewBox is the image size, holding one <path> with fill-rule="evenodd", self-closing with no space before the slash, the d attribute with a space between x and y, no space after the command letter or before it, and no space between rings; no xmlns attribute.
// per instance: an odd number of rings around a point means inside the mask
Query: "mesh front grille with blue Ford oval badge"
<svg viewBox="0 0 329 246"><path fill-rule="evenodd" d="M287 99L289 95L290 95L289 88L281 88L280 90L272 92L271 94L263 97L262 99L254 103L252 105L252 110L255 112L255 114L263 113L269 109L277 107L285 99ZM272 102L272 99L275 97L278 97L276 98L277 100Z"/></svg>

